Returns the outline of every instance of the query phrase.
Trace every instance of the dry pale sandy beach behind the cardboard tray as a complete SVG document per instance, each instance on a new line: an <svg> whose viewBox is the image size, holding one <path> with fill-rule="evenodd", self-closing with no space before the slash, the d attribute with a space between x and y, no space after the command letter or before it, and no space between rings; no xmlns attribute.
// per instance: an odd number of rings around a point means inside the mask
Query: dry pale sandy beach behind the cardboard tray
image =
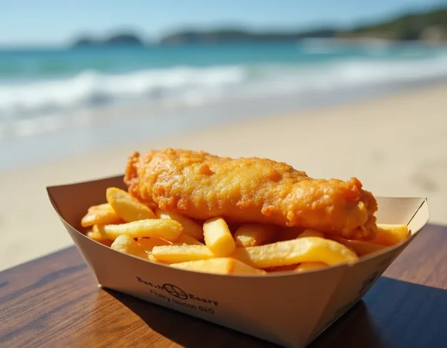
<svg viewBox="0 0 447 348"><path fill-rule="evenodd" d="M45 186L121 174L128 155L150 148L285 161L312 177L360 178L375 195L428 197L447 224L447 85L206 131L117 146L0 173L0 270L72 244Z"/></svg>

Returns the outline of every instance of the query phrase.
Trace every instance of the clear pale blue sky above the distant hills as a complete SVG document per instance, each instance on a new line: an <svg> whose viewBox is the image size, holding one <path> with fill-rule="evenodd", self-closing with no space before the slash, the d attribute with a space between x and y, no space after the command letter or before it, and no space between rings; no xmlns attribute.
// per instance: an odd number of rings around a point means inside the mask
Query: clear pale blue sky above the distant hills
<svg viewBox="0 0 447 348"><path fill-rule="evenodd" d="M447 0L2 0L0 45L64 45L80 34L133 30L156 39L182 28L349 27Z"/></svg>

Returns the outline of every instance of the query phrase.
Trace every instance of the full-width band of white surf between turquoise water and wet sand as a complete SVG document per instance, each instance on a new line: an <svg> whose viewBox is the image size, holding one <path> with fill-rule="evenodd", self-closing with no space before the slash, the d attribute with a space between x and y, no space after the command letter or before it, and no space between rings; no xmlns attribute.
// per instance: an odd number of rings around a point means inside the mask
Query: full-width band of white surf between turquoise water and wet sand
<svg viewBox="0 0 447 348"><path fill-rule="evenodd" d="M441 76L447 77L445 55L401 60L351 58L318 64L173 67L114 75L85 71L59 80L0 82L0 123L34 116L43 120L50 114L63 115L113 102L167 100L170 105L195 106L230 96L317 93ZM23 133L28 133L28 128L23 126Z"/></svg>

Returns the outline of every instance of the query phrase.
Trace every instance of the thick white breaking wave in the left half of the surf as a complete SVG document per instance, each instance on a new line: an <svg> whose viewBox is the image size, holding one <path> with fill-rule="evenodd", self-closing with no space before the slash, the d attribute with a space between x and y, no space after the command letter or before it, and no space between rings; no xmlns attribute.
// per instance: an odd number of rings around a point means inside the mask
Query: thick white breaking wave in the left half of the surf
<svg viewBox="0 0 447 348"><path fill-rule="evenodd" d="M244 79L242 67L175 67L121 75L86 71L65 80L0 83L0 120L34 116L135 98L180 98L194 102L194 91L213 91Z"/></svg>

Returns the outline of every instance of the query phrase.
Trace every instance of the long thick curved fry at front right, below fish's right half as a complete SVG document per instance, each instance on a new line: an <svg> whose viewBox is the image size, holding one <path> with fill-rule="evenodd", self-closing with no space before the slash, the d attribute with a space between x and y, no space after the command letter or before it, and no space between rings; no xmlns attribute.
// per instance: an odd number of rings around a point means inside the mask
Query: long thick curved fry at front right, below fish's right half
<svg viewBox="0 0 447 348"><path fill-rule="evenodd" d="M356 253L346 246L320 237L304 237L264 246L237 248L231 257L256 268L302 262L324 262L328 265L337 265L358 260Z"/></svg>

